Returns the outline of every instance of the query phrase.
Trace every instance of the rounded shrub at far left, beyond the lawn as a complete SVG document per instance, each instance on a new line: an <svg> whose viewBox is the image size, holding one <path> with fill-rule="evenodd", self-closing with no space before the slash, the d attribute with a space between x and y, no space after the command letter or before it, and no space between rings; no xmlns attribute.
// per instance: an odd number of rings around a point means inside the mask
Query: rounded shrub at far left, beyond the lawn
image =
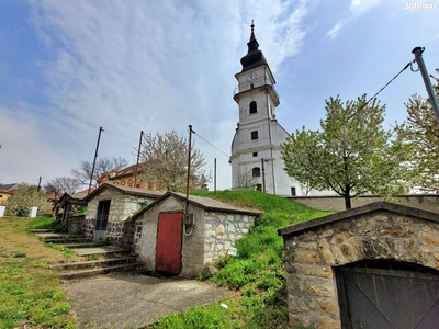
<svg viewBox="0 0 439 329"><path fill-rule="evenodd" d="M38 207L37 213L44 214L52 206L44 191L38 191L35 185L26 183L18 184L13 194L5 203L9 213L18 216L26 216L31 207Z"/></svg>

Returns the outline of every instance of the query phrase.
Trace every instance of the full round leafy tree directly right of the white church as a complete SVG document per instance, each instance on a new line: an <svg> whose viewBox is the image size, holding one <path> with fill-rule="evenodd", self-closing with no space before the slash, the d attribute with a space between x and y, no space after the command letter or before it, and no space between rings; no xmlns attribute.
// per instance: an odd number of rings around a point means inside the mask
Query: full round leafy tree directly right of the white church
<svg viewBox="0 0 439 329"><path fill-rule="evenodd" d="M345 104L326 100L322 131L296 131L282 144L285 171L299 183L333 190L351 208L351 198L364 193L384 197L407 191L409 147L382 127L385 106L365 94Z"/></svg>

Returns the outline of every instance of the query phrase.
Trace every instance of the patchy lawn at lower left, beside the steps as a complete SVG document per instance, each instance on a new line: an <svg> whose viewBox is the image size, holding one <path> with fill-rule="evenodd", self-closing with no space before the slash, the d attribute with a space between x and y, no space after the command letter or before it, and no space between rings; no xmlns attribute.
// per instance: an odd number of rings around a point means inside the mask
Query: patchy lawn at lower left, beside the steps
<svg viewBox="0 0 439 329"><path fill-rule="evenodd" d="M46 219L0 219L1 329L77 328L59 280L48 270L48 262L65 257L27 234Z"/></svg>

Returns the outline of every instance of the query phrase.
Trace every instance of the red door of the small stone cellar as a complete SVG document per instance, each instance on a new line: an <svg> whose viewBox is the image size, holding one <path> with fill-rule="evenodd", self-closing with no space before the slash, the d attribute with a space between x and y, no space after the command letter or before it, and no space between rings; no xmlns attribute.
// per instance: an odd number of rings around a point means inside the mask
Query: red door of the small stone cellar
<svg viewBox="0 0 439 329"><path fill-rule="evenodd" d="M180 274L183 213L158 216L156 271Z"/></svg>

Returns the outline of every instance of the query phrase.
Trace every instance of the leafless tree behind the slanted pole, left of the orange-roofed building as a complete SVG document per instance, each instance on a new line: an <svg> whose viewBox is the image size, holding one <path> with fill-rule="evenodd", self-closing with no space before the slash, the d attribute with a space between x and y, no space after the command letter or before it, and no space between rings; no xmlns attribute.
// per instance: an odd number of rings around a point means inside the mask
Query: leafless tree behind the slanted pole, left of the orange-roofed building
<svg viewBox="0 0 439 329"><path fill-rule="evenodd" d="M98 188L99 179L105 172L119 171L128 166L128 161L122 157L101 158L98 159L94 166L92 186ZM91 170L93 162L82 161L80 169L71 170L71 174L80 181L82 185L88 185L90 182Z"/></svg>

